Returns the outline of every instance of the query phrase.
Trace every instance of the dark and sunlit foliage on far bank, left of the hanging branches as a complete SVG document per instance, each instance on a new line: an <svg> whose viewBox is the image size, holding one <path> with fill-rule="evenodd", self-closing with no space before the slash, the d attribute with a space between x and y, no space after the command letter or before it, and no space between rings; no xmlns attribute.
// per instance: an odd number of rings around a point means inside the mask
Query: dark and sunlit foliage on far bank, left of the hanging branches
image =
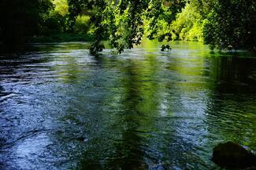
<svg viewBox="0 0 256 170"><path fill-rule="evenodd" d="M0 50L13 51L25 42L90 41L89 16L69 30L67 0L1 0Z"/></svg>

